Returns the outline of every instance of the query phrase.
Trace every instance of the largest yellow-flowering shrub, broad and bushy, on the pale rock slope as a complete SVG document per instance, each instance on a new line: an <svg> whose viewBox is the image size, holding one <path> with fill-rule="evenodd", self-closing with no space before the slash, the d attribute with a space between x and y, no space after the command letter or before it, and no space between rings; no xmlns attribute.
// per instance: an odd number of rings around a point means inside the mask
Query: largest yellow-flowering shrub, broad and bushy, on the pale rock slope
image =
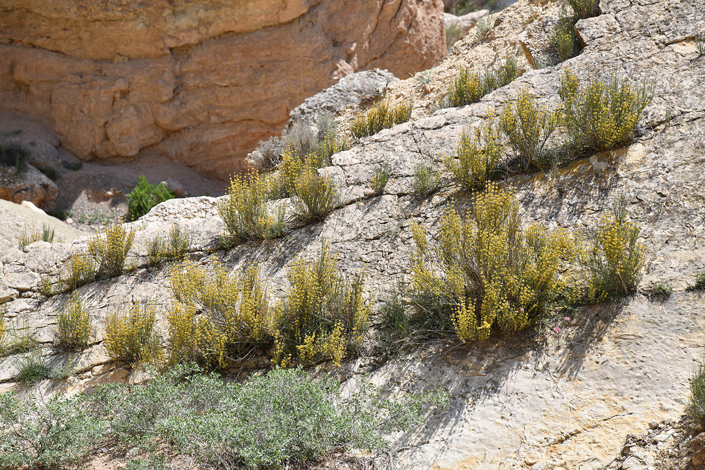
<svg viewBox="0 0 705 470"><path fill-rule="evenodd" d="M436 306L462 341L485 339L491 330L521 330L571 290L560 274L572 258L572 239L539 224L525 227L514 194L489 184L474 212L453 209L441 217L431 250L421 227L413 228L412 291L417 308Z"/></svg>

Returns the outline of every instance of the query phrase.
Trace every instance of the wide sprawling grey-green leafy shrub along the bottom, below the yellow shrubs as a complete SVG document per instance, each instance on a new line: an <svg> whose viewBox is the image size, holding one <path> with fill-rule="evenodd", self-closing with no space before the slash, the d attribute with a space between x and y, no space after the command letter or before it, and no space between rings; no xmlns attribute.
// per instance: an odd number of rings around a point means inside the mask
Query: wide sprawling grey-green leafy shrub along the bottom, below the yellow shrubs
<svg viewBox="0 0 705 470"><path fill-rule="evenodd" d="M447 406L444 392L384 399L369 382L343 396L340 384L304 370L270 370L245 382L179 365L141 385L106 385L90 400L123 445L192 457L207 468L307 467L332 452L388 450L379 430L422 423Z"/></svg>

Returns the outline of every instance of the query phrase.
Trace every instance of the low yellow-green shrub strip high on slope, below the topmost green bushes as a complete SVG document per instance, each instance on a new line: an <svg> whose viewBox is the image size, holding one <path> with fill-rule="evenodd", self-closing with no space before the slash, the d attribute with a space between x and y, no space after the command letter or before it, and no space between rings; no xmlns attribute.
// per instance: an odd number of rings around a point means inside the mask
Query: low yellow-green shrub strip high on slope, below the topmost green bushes
<svg viewBox="0 0 705 470"><path fill-rule="evenodd" d="M477 103L484 95L508 85L521 74L517 60L513 57L508 57L497 70L485 71L482 74L471 72L469 68L462 68L446 95L441 99L441 107L459 107Z"/></svg>

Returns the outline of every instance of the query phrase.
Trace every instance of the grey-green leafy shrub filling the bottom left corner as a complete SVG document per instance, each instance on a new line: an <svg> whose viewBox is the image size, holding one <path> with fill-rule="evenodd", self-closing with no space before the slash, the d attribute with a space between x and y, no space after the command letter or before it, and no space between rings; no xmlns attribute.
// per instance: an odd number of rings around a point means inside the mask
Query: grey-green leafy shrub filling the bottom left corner
<svg viewBox="0 0 705 470"><path fill-rule="evenodd" d="M37 404L0 394L0 467L59 469L78 462L104 432L89 411L82 395Z"/></svg>

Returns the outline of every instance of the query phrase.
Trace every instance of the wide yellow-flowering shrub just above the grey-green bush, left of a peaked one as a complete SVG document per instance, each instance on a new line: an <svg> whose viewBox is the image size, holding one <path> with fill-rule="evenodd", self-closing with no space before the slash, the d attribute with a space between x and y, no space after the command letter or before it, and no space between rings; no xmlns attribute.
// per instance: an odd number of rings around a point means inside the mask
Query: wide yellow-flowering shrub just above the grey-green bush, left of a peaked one
<svg viewBox="0 0 705 470"><path fill-rule="evenodd" d="M168 312L172 363L189 359L204 366L226 366L252 347L271 342L266 289L254 265L242 275L187 262L173 270L174 302Z"/></svg>

